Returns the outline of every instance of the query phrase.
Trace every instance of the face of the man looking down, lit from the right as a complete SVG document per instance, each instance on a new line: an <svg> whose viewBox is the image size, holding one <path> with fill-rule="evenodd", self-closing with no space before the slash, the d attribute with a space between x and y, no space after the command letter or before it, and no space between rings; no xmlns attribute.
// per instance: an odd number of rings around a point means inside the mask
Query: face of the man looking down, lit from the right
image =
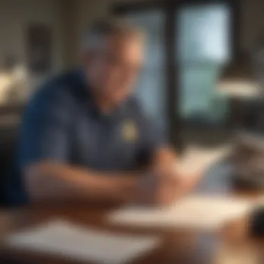
<svg viewBox="0 0 264 264"><path fill-rule="evenodd" d="M91 54L86 70L97 96L118 104L131 94L142 64L142 47L135 36L109 37Z"/></svg>

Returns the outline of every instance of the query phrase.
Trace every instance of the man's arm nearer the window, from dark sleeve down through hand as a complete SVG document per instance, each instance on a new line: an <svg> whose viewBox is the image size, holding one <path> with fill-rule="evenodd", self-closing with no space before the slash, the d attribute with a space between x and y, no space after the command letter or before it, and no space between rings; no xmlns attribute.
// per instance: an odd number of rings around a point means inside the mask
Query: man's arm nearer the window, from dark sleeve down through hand
<svg viewBox="0 0 264 264"><path fill-rule="evenodd" d="M177 197L190 192L197 185L201 174L183 174L179 170L176 153L167 143L163 129L147 117L144 111L141 112L141 120L143 140L140 156L147 160L158 181L155 202L170 204Z"/></svg>

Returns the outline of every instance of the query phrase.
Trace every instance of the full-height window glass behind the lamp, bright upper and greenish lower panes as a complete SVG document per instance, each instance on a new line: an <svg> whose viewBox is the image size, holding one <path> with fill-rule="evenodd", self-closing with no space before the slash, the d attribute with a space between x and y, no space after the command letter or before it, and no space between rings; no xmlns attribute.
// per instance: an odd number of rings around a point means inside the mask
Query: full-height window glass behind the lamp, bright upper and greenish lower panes
<svg viewBox="0 0 264 264"><path fill-rule="evenodd" d="M181 117L224 119L227 102L217 97L215 83L230 57L229 8L220 4L185 6L178 11L176 36L180 67Z"/></svg>

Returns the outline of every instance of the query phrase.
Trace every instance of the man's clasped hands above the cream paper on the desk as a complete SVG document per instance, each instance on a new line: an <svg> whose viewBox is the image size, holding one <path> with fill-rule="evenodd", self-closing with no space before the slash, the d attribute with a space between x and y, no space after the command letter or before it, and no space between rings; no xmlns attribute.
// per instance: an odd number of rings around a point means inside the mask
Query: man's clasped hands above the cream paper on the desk
<svg viewBox="0 0 264 264"><path fill-rule="evenodd" d="M154 155L149 174L138 181L135 201L154 206L170 205L190 192L201 179L200 174L182 175L176 166L176 156L169 148Z"/></svg>

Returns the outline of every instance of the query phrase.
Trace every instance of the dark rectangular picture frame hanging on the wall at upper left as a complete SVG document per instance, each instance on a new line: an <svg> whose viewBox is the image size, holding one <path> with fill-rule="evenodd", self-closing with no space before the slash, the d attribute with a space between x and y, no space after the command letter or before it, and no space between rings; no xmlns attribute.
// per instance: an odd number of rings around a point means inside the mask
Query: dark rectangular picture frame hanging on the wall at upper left
<svg viewBox="0 0 264 264"><path fill-rule="evenodd" d="M51 30L44 24L31 23L26 32L28 69L34 74L51 70Z"/></svg>

